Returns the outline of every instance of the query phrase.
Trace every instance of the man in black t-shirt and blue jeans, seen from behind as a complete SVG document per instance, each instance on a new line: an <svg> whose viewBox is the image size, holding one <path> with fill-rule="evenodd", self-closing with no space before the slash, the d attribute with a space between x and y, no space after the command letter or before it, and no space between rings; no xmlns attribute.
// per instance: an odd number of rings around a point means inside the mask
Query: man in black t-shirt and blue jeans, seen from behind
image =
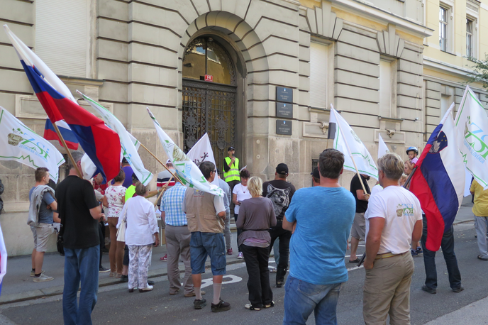
<svg viewBox="0 0 488 325"><path fill-rule="evenodd" d="M78 151L72 153L80 171L82 155ZM91 324L99 288L99 221L104 214L90 182L77 176L70 160L68 166L70 174L57 185L55 193L65 247L62 314L65 324ZM77 304L80 281L83 285Z"/></svg>

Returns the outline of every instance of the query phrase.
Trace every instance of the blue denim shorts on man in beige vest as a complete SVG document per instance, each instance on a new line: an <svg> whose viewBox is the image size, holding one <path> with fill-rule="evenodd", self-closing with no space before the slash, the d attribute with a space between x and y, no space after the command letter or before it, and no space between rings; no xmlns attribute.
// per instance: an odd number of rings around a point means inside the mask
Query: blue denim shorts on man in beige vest
<svg viewBox="0 0 488 325"><path fill-rule="evenodd" d="M226 274L226 243L223 233L201 233L195 231L190 239L192 274L205 273L205 261L210 256L213 275Z"/></svg>

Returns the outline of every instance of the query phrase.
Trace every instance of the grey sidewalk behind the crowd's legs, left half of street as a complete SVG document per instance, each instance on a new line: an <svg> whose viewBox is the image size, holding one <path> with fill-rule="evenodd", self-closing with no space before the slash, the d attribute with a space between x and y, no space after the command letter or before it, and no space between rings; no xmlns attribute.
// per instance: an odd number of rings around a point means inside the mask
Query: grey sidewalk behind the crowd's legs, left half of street
<svg viewBox="0 0 488 325"><path fill-rule="evenodd" d="M244 262L244 260L238 260L237 258L238 249L235 224L231 224L231 231L233 231L233 255L226 255L227 265ZM160 260L160 258L162 258L162 256L165 254L166 246L153 248L153 258L149 268L148 277L160 277L167 275L166 262L162 262ZM110 267L109 254L104 254L102 256L101 264L104 265L105 268ZM210 267L209 259L206 262L206 266ZM33 277L30 277L30 255L9 258L7 262L7 274L4 277L1 287L0 304L21 302L23 300L38 299L55 294L62 294L64 285L64 268L64 257L62 257L59 253L46 253L44 256L43 270L45 270L46 275L54 277L54 280L49 282L33 282ZM184 265L181 261L179 263L179 270L184 271ZM119 279L109 277L109 273L110 272L99 273L99 287L116 285L120 283Z"/></svg>

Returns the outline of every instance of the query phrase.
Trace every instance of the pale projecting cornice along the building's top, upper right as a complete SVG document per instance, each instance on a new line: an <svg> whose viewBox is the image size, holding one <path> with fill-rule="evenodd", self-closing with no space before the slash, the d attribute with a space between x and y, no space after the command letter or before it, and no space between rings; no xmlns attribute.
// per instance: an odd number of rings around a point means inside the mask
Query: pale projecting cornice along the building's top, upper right
<svg viewBox="0 0 488 325"><path fill-rule="evenodd" d="M404 18L389 11L385 11L384 9L380 9L372 4L355 0L331 0L331 2L333 3L333 6L340 9L345 9L346 11L353 10L362 15L375 18L385 24L392 23L397 26L399 30L414 33L421 38L432 36L433 33L433 29L431 28L427 28L420 23L411 21L409 18Z"/></svg>

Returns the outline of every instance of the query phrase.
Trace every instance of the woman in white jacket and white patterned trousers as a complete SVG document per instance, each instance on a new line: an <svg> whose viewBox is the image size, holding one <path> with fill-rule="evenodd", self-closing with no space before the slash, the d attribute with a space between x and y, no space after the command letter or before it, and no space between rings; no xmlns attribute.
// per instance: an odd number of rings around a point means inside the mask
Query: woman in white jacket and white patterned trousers
<svg viewBox="0 0 488 325"><path fill-rule="evenodd" d="M117 228L125 221L126 245L129 249L129 292L139 288L139 292L153 290L148 285L148 270L153 255L153 245L160 244L159 228L157 228L154 205L145 197L148 187L138 182L135 185L137 196L128 199L118 218Z"/></svg>

